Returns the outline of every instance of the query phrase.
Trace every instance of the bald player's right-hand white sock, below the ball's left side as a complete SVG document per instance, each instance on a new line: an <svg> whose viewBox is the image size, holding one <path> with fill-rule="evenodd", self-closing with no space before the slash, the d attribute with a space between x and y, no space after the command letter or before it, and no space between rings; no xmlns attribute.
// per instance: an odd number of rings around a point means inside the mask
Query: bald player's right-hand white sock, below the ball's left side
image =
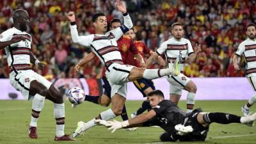
<svg viewBox="0 0 256 144"><path fill-rule="evenodd" d="M54 103L54 117L56 119L56 136L61 137L64 135L65 128L65 105Z"/></svg>

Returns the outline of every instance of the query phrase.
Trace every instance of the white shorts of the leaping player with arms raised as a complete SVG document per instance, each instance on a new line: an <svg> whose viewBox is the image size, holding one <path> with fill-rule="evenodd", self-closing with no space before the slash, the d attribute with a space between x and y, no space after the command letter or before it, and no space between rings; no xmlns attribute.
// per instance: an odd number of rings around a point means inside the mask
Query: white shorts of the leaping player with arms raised
<svg viewBox="0 0 256 144"><path fill-rule="evenodd" d="M110 65L109 71L106 71L106 77L111 86L111 97L118 93L126 99L128 76L132 68L131 65L120 65L118 63Z"/></svg>

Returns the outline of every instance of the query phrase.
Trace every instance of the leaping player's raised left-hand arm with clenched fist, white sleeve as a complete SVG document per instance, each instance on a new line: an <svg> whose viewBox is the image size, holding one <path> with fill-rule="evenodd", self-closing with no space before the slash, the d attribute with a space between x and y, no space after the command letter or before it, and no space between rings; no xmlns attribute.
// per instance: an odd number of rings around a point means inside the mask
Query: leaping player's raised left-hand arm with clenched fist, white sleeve
<svg viewBox="0 0 256 144"><path fill-rule="evenodd" d="M92 44L93 35L88 36L79 36L76 26L76 17L74 12L68 12L67 18L70 20L70 33L72 36L72 40L75 43L78 43L80 45L89 46Z"/></svg>

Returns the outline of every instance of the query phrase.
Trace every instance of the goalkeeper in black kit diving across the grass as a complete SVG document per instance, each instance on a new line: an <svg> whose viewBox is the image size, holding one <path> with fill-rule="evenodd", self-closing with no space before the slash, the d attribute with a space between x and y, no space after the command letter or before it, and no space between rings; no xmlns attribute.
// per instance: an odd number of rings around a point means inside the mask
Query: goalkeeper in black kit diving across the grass
<svg viewBox="0 0 256 144"><path fill-rule="evenodd" d="M237 116L230 113L203 113L202 109L194 109L186 113L170 100L164 100L163 92L154 90L148 93L152 109L148 113L137 115L124 122L116 120L96 120L99 124L110 127L115 132L117 129L127 127L148 127L159 125L164 129L160 136L161 141L204 141L212 122L218 124L252 124L256 120L256 113L250 116Z"/></svg>

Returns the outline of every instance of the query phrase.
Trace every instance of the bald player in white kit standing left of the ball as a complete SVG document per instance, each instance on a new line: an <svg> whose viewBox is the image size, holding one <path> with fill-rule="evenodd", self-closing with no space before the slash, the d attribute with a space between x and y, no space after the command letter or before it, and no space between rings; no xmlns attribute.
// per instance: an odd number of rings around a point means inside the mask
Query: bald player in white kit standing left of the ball
<svg viewBox="0 0 256 144"><path fill-rule="evenodd" d="M0 49L5 49L8 66L10 67L10 83L20 91L25 99L32 100L31 122L29 137L38 138L36 124L44 107L45 98L54 102L56 119L56 141L74 140L64 134L65 106L63 96L53 84L31 70L30 62L43 68L44 64L35 58L31 51L31 35L29 31L29 15L25 10L13 12L13 28L7 29L0 35Z"/></svg>

